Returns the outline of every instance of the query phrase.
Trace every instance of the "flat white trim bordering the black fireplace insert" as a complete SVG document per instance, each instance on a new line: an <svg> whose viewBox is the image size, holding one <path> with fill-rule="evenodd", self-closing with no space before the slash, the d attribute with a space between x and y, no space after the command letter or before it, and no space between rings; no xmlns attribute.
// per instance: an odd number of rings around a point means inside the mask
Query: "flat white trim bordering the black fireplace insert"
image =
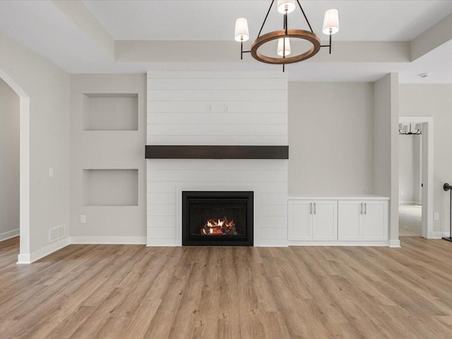
<svg viewBox="0 0 452 339"><path fill-rule="evenodd" d="M176 246L182 246L182 191L254 191L254 246L261 246L261 227L256 227L258 225L261 225L259 220L261 214L260 186L249 184L229 185L226 183L176 185ZM271 241L274 242L274 240Z"/></svg>

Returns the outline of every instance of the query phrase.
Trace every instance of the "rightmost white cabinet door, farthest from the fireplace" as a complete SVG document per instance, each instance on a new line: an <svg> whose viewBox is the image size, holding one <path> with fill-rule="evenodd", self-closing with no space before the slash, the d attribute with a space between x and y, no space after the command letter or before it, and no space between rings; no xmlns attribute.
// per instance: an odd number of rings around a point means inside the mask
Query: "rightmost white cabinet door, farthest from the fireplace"
<svg viewBox="0 0 452 339"><path fill-rule="evenodd" d="M363 240L388 240L388 201L364 201Z"/></svg>

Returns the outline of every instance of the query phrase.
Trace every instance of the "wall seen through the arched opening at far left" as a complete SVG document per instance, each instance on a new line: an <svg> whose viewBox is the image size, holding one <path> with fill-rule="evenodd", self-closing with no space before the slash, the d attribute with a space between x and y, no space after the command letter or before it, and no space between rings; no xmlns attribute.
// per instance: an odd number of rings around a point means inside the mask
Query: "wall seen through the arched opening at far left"
<svg viewBox="0 0 452 339"><path fill-rule="evenodd" d="M19 97L0 78L0 241L19 234Z"/></svg>

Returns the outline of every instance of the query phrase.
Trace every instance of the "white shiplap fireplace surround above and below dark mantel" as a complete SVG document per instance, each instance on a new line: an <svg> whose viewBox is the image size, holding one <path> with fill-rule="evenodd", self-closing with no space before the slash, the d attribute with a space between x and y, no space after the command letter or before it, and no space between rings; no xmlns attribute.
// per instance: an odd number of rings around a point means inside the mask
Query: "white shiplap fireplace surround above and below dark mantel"
<svg viewBox="0 0 452 339"><path fill-rule="evenodd" d="M147 145L287 145L282 72L148 72ZM182 191L254 191L254 246L287 246L287 160L147 162L147 244L182 245Z"/></svg>

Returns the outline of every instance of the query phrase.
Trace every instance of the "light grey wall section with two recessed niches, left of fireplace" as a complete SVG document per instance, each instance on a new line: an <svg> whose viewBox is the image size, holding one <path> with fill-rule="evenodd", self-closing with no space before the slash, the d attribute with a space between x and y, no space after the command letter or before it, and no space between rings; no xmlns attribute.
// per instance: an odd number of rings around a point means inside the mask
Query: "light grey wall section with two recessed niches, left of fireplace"
<svg viewBox="0 0 452 339"><path fill-rule="evenodd" d="M89 105L93 93L94 101ZM133 100L137 102L135 95L138 95L138 106L133 104ZM91 109L92 112L86 112L87 109ZM145 74L71 75L73 243L145 244L145 112ZM90 114L95 117L95 123ZM105 119L107 120L104 124ZM133 130L136 129L136 119L138 130ZM96 129L107 126L107 129L111 130L93 131L87 125L90 123L93 123ZM129 130L121 130L123 127ZM93 172L96 175L91 177L97 178L97 183L89 184L90 180L86 177L89 171L85 171L83 179L83 169L105 169L105 171ZM133 174L134 169L138 169L138 182L136 175ZM111 185L119 183L119 186L109 187L108 190L104 190L105 192L100 192L97 186L105 188L109 181ZM90 206L92 203L86 196L92 193L93 189L97 189L96 206ZM112 197L104 197L105 201L102 201L102 195L105 196L107 191L112 192L115 189L121 191L121 201L126 197L125 203L115 203L118 198ZM114 206L118 204L129 206ZM86 223L80 222L81 215L86 216Z"/></svg>

